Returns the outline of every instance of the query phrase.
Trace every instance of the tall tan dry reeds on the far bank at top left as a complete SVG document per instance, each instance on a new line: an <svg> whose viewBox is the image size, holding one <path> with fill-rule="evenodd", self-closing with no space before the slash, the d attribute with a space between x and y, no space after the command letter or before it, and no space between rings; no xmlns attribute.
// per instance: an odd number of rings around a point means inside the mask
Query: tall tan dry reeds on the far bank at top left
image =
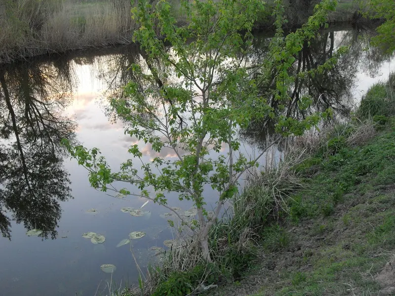
<svg viewBox="0 0 395 296"><path fill-rule="evenodd" d="M0 63L44 53L130 43L135 29L129 0L89 4L16 0L6 5L11 12L0 18ZM0 14L5 15L5 6L0 9Z"/></svg>

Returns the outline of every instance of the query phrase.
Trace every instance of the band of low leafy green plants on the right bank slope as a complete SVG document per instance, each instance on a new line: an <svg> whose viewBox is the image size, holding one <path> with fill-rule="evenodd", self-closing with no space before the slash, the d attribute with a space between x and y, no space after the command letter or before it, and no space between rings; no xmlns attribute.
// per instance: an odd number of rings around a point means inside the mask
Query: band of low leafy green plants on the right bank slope
<svg viewBox="0 0 395 296"><path fill-rule="evenodd" d="M389 159L395 158L395 133L386 133L362 148L343 148L337 154L322 160L320 173L310 181L319 188L309 198L302 194L290 201L290 216L300 218L330 216L334 206L344 201L344 195L356 190L361 183L386 185L394 182L394 167Z"/></svg>

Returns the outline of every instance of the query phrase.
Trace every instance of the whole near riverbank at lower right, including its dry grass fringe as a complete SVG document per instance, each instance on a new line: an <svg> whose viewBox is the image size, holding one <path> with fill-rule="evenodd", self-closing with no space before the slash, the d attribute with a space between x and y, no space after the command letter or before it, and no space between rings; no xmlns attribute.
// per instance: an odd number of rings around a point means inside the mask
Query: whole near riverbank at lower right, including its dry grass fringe
<svg viewBox="0 0 395 296"><path fill-rule="evenodd" d="M141 282L122 295L393 295L394 92L392 74L348 122L297 138L299 154L255 175L234 218L213 227L224 259L167 275L151 269L157 287Z"/></svg>

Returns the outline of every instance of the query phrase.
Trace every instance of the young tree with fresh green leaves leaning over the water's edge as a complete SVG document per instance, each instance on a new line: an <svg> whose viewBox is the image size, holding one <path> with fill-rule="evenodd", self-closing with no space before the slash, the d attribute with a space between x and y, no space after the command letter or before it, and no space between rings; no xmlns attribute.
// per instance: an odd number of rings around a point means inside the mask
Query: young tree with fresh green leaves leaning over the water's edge
<svg viewBox="0 0 395 296"><path fill-rule="evenodd" d="M69 145L79 164L89 170L91 185L106 191L116 181L133 184L140 192L119 192L151 199L169 210L170 201L162 192L177 192L180 200L192 200L197 207L195 232L204 258L211 261L209 229L225 201L237 193L239 178L265 152L254 158L243 155L237 130L245 128L252 118L271 117L279 135L271 145L276 145L281 135L301 134L328 115L325 111L296 120L277 111L285 109L282 102L290 100L288 88L295 77L289 76L288 70L294 56L304 42L314 38L325 23L327 10L335 5L334 0L323 0L307 24L284 37L282 6L277 1L277 29L270 54L262 63L254 64L248 54L254 21L264 9L261 0L182 1L186 27L176 25L165 0L155 6L139 0L133 15L140 29L134 36L145 50L146 67L132 66L135 79L125 86L121 98L111 101L111 106L126 123L130 136L150 143L157 152L172 149L176 158L155 157L144 163L136 144L128 150L133 157L121 165L119 172L113 172L105 158L98 156L97 148ZM323 71L335 60L334 55L316 69L298 75ZM268 96L280 104L268 104ZM302 109L310 103L307 96L298 102ZM210 156L211 151L219 153L224 146L226 153ZM139 174L136 166L142 166L143 173ZM217 192L213 216L206 210L207 185ZM155 191L154 196L149 188Z"/></svg>

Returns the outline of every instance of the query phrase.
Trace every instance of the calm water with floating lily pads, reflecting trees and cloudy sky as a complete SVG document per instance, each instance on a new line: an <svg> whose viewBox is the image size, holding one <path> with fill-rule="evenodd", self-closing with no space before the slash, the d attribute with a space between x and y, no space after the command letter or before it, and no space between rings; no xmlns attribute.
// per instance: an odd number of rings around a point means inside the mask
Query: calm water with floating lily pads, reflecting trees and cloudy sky
<svg viewBox="0 0 395 296"><path fill-rule="evenodd" d="M393 56L376 48L364 50L371 34L372 30L347 27L321 32L317 41L302 50L303 65L331 57L340 45L350 45L350 50L324 79L296 92L317 97L325 93L333 107L352 108L370 85L395 71ZM269 38L270 34L256 34L251 60L264 57ZM59 145L68 138L88 148L98 147L113 167L129 157L127 148L135 141L115 121L107 98L119 94L133 75L128 66L142 59L136 46L126 46L40 57L0 68L1 294L106 295L111 281L113 288L136 281L132 252L144 271L155 260L149 249L164 247L163 241L172 239L172 229L159 216L168 211L151 201L142 208L146 212L142 217L121 211L140 208L146 200L94 190L86 170ZM259 142L259 128L246 135L250 144L246 149L251 151L254 141L250 139ZM156 153L145 146L145 159ZM168 151L162 153L172 157ZM173 200L171 205L184 211L192 206ZM28 236L26 232L34 228L43 233ZM117 247L133 231L146 235ZM92 239L92 243L90 237L82 237L86 232L101 234L105 241ZM117 269L105 273L103 264Z"/></svg>

